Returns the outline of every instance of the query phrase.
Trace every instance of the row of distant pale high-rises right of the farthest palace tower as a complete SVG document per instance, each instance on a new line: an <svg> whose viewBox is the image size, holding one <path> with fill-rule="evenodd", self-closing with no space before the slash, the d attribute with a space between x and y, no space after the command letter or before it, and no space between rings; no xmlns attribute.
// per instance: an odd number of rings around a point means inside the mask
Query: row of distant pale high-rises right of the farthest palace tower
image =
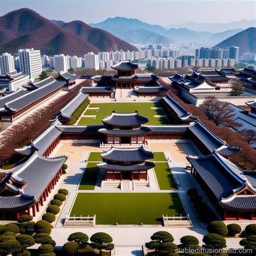
<svg viewBox="0 0 256 256"><path fill-rule="evenodd" d="M193 55L181 55L179 58L162 58L151 57L147 58L147 66L154 69L176 69L187 68L188 66L197 67L227 67L234 66L234 59L201 59L194 58Z"/></svg>

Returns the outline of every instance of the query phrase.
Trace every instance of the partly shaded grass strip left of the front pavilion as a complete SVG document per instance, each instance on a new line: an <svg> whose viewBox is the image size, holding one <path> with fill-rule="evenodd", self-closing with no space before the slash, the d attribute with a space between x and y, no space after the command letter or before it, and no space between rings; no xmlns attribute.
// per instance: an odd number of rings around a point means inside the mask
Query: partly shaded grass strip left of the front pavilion
<svg viewBox="0 0 256 256"><path fill-rule="evenodd" d="M96 167L96 163L88 163L81 182L79 184L79 190L94 190L99 175L99 169Z"/></svg>

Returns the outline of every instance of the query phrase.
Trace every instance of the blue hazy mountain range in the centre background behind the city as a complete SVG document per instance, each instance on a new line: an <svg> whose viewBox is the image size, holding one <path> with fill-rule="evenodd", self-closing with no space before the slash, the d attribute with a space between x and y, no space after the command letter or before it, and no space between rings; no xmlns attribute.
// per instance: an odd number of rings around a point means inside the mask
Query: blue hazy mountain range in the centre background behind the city
<svg viewBox="0 0 256 256"><path fill-rule="evenodd" d="M223 41L227 37L233 36L235 33L243 30L242 28L239 28L238 22L235 24L237 24L237 28L223 31L223 29L226 28L223 26L221 32L218 33L208 32L208 30L195 31L188 29L185 26L178 29L166 29L160 25L151 25L149 23L139 21L139 19L124 17L107 18L103 22L91 23L90 25L95 28L109 31L124 41L133 44L169 44L173 43L174 41L179 43L201 41L207 45L213 46L214 44L218 44L219 42ZM241 26L243 27L245 24L242 23Z"/></svg>

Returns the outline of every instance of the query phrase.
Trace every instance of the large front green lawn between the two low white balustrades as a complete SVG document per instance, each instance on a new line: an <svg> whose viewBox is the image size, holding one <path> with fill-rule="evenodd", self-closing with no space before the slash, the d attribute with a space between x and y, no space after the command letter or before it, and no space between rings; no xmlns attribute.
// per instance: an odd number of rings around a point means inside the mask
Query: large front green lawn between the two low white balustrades
<svg viewBox="0 0 256 256"><path fill-rule="evenodd" d="M178 193L78 193L71 216L93 216L96 224L160 225L163 214L185 215Z"/></svg>

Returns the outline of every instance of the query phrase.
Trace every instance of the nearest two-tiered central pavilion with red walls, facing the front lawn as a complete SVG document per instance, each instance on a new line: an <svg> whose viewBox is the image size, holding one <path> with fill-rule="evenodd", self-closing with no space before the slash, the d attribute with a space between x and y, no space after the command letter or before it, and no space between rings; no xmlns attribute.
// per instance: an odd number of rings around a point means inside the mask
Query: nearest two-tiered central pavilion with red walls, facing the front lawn
<svg viewBox="0 0 256 256"><path fill-rule="evenodd" d="M147 161L153 159L154 154L146 151L143 146L120 148L111 147L111 150L102 154L103 162L97 164L105 171L105 180L147 180L147 170L156 165Z"/></svg>

